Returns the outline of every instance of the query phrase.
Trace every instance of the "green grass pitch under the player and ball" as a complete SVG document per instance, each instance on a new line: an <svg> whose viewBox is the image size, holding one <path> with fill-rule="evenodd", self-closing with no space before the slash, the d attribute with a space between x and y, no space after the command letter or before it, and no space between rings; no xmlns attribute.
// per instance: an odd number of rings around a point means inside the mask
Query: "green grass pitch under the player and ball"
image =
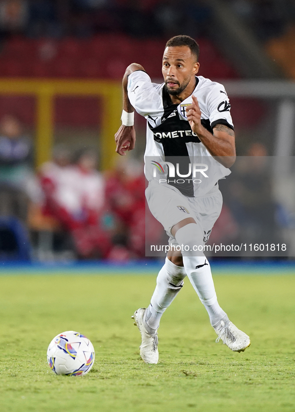
<svg viewBox="0 0 295 412"><path fill-rule="evenodd" d="M160 361L139 357L130 316L148 305L155 277L0 277L0 410L287 412L295 410L295 276L216 276L220 304L252 340L221 342L188 280L164 314ZM77 330L92 341L88 375L57 376L50 340Z"/></svg>

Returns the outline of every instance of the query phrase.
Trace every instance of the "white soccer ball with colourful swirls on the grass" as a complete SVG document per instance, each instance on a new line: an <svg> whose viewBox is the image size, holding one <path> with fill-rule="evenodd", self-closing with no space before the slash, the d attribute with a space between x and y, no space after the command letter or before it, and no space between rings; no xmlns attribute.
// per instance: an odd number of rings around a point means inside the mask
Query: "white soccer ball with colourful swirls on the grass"
<svg viewBox="0 0 295 412"><path fill-rule="evenodd" d="M90 340L73 330L55 336L47 349L47 362L57 375L85 375L92 368L94 358Z"/></svg>

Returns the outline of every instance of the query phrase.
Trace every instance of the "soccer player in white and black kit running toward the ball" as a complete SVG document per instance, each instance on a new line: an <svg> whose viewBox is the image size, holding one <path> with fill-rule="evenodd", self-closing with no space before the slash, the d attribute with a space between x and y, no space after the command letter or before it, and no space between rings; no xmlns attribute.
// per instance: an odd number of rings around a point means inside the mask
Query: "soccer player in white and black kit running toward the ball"
<svg viewBox="0 0 295 412"><path fill-rule="evenodd" d="M152 83L144 68L136 63L128 66L123 78L122 126L115 135L116 152L123 156L134 148L135 109L147 120L148 206L170 236L169 244L187 246L185 253L171 247L158 274L150 305L132 316L141 333L140 355L146 363L158 362L160 319L180 292L185 276L207 309L218 335L216 341L222 339L237 352L250 345L249 336L229 320L218 304L207 258L194 251L196 245L204 245L208 240L220 214L222 196L218 180L230 174L229 167L236 159L228 96L221 84L197 76L198 59L199 46L194 39L176 36L167 42L164 50L164 83ZM169 180L160 182L149 172L148 156L161 159L166 167L170 157L210 159L215 163L214 177L206 180L203 192L196 179L188 179L183 187Z"/></svg>

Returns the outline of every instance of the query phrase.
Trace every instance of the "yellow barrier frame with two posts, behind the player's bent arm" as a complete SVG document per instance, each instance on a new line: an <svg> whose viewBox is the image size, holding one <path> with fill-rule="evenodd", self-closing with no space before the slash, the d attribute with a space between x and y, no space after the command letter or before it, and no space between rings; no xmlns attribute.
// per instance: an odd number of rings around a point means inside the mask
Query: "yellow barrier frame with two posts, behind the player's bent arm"
<svg viewBox="0 0 295 412"><path fill-rule="evenodd" d="M115 153L114 134L121 122L121 84L101 80L29 80L0 79L1 95L33 95L37 99L35 164L38 167L51 158L54 125L54 97L97 96L103 99L100 135L101 165L107 169ZM97 114L98 116L98 114Z"/></svg>

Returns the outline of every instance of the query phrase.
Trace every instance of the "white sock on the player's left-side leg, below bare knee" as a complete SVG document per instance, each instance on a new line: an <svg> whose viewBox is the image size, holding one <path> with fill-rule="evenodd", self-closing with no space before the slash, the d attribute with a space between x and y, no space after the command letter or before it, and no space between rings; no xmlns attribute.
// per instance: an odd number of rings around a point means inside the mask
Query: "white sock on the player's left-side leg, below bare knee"
<svg viewBox="0 0 295 412"><path fill-rule="evenodd" d="M144 314L144 326L150 334L158 329L161 316L180 292L185 277L184 267L175 265L166 257L165 264L157 277L151 303Z"/></svg>

